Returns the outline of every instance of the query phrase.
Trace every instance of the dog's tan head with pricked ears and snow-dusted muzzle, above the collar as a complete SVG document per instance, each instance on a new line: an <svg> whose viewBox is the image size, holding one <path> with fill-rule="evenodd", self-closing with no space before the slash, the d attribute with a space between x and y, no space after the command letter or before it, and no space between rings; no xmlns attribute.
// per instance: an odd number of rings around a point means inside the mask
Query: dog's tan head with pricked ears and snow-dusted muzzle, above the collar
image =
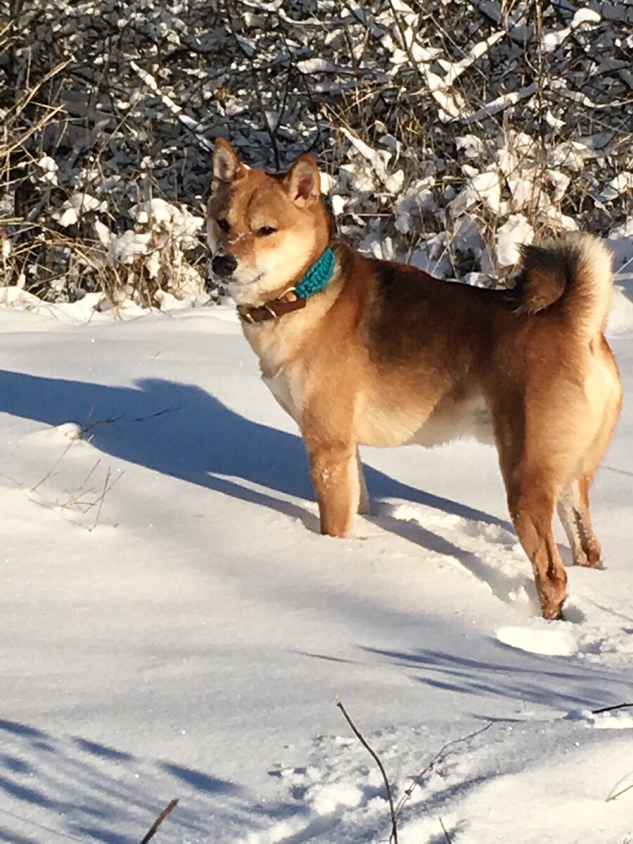
<svg viewBox="0 0 633 844"><path fill-rule="evenodd" d="M300 281L326 249L330 221L319 171L302 155L284 176L249 170L215 144L207 235L211 268L240 304L257 305Z"/></svg>

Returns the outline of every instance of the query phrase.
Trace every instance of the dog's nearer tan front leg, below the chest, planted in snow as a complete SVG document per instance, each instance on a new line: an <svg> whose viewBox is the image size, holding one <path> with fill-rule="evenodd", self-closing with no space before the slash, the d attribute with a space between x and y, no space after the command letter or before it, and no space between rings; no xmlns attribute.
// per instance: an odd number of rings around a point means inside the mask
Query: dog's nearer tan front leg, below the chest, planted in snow
<svg viewBox="0 0 633 844"><path fill-rule="evenodd" d="M317 493L321 533L349 536L360 505L359 463L354 445L306 442L310 474Z"/></svg>

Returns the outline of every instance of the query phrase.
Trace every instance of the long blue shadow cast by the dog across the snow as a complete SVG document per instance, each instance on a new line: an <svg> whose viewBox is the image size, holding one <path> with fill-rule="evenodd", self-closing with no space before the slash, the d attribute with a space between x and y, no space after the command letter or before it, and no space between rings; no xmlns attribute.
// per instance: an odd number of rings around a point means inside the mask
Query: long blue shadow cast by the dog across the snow
<svg viewBox="0 0 633 844"><path fill-rule="evenodd" d="M46 425L75 422L101 452L173 478L267 506L307 527L316 522L288 500L313 500L300 436L246 419L200 387L143 379L133 387L0 370L0 412ZM489 513L365 467L371 495L400 498L468 519L511 526Z"/></svg>

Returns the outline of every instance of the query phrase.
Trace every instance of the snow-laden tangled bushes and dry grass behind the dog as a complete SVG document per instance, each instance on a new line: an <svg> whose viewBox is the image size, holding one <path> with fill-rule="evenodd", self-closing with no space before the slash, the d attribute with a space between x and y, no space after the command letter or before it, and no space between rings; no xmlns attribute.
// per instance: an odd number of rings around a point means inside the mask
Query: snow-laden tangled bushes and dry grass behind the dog
<svg viewBox="0 0 633 844"><path fill-rule="evenodd" d="M159 305L200 290L214 138L314 151L338 230L437 274L631 215L633 8L571 0L10 0L5 283Z"/></svg>

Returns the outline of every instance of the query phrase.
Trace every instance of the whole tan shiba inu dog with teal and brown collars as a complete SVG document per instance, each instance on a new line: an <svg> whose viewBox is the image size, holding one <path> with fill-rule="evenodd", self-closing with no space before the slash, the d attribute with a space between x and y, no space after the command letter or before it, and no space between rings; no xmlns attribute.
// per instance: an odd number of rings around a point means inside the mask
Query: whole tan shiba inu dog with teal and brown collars
<svg viewBox="0 0 633 844"><path fill-rule="evenodd" d="M208 242L262 377L306 444L322 533L346 536L368 507L358 446L494 443L541 612L560 618L566 573L601 568L588 490L621 387L604 338L610 254L583 235L527 246L517 287L432 278L331 240L317 164L284 176L214 151Z"/></svg>

